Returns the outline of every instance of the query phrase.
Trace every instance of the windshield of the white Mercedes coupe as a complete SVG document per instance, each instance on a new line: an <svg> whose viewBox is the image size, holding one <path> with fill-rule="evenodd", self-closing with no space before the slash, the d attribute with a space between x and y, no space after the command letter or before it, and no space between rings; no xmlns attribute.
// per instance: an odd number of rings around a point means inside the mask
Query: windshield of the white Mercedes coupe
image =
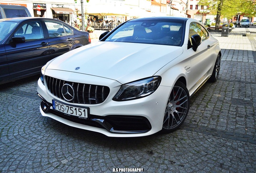
<svg viewBox="0 0 256 173"><path fill-rule="evenodd" d="M180 46L182 36L183 23L130 20L109 35L105 41Z"/></svg>

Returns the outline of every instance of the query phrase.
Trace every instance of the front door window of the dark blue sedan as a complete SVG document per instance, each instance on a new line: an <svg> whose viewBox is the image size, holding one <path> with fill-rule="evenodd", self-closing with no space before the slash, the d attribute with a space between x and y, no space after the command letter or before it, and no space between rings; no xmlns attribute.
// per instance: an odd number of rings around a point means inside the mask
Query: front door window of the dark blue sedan
<svg viewBox="0 0 256 173"><path fill-rule="evenodd" d="M26 41L43 38L43 30L40 22L28 22L23 24L14 36L24 36Z"/></svg>

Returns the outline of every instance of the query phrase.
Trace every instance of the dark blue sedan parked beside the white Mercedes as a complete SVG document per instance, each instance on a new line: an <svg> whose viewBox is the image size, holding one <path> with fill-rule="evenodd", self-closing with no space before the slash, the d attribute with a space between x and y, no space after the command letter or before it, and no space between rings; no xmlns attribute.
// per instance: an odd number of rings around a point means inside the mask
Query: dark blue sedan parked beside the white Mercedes
<svg viewBox="0 0 256 173"><path fill-rule="evenodd" d="M0 84L39 74L49 60L90 43L88 32L60 20L0 19Z"/></svg>

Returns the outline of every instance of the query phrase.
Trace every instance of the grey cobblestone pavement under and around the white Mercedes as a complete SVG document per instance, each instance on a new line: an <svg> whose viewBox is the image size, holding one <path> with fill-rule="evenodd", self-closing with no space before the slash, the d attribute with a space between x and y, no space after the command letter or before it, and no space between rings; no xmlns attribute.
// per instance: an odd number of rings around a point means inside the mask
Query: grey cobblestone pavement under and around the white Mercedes
<svg viewBox="0 0 256 173"><path fill-rule="evenodd" d="M169 134L110 138L69 127L40 115L39 76L0 85L0 172L255 173L256 44L247 30L212 33L219 80L192 97L184 125Z"/></svg>

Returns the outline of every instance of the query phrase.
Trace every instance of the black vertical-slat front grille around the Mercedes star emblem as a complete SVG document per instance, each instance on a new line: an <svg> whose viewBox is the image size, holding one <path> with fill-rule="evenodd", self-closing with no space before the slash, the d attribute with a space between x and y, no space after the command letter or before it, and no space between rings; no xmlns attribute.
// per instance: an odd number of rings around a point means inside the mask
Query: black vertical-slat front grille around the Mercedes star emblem
<svg viewBox="0 0 256 173"><path fill-rule="evenodd" d="M109 87L93 84L83 84L60 80L50 76L45 76L45 83L52 95L66 101L62 96L62 86L70 84L74 89L74 99L71 103L99 104L103 103L109 95Z"/></svg>

